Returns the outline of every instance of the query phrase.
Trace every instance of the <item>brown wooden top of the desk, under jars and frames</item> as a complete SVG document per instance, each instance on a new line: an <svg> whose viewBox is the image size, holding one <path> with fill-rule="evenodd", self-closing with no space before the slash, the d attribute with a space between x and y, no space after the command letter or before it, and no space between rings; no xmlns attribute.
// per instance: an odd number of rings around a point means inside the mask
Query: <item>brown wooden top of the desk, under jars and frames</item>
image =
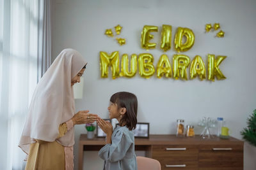
<svg viewBox="0 0 256 170"><path fill-rule="evenodd" d="M221 145L240 144L243 145L243 141L232 138L220 139L216 136L211 139L202 139L199 135L193 138L177 137L174 134L150 134L149 138L135 138L135 145L198 145L207 144L214 145L219 143ZM80 145L105 145L105 138L93 138L88 139L87 134L81 134L79 139Z"/></svg>

